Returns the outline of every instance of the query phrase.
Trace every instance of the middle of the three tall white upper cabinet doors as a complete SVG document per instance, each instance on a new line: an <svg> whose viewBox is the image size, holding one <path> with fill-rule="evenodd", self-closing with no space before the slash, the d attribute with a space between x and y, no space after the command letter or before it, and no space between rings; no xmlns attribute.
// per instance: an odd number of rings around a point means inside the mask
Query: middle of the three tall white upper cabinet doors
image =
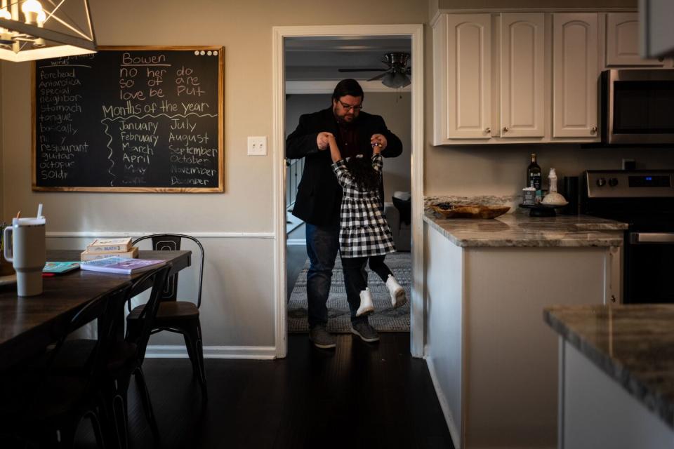
<svg viewBox="0 0 674 449"><path fill-rule="evenodd" d="M501 14L501 138L545 133L545 15Z"/></svg>

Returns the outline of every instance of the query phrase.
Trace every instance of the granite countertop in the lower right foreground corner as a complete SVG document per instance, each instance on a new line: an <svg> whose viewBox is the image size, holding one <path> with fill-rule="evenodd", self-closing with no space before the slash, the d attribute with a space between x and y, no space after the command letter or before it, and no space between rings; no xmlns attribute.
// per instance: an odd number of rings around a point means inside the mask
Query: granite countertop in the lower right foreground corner
<svg viewBox="0 0 674 449"><path fill-rule="evenodd" d="M674 304L546 307L543 319L674 429Z"/></svg>

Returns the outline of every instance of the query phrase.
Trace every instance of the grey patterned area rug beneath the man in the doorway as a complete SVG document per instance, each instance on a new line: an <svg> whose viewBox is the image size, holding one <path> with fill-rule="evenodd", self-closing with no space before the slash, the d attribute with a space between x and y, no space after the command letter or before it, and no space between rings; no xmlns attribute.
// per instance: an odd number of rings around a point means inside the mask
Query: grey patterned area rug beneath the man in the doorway
<svg viewBox="0 0 674 449"><path fill-rule="evenodd" d="M411 253L393 253L386 256L388 267L393 276L407 293L407 304L397 309L391 307L391 297L386 284L376 273L367 270L368 286L374 300L374 313L369 322L379 332L409 332L409 290L411 282ZM295 283L295 288L288 302L288 331L290 333L307 333L307 270L309 261L305 263ZM328 331L331 333L350 333L351 319L349 304L346 301L344 274L339 256L332 273L330 296L328 297Z"/></svg>

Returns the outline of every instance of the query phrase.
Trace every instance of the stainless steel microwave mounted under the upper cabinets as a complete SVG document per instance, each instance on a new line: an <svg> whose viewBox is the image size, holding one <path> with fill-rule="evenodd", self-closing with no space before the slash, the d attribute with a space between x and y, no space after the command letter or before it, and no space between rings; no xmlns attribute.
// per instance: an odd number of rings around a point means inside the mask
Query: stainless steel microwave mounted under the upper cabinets
<svg viewBox="0 0 674 449"><path fill-rule="evenodd" d="M602 142L674 144L674 69L605 70Z"/></svg>

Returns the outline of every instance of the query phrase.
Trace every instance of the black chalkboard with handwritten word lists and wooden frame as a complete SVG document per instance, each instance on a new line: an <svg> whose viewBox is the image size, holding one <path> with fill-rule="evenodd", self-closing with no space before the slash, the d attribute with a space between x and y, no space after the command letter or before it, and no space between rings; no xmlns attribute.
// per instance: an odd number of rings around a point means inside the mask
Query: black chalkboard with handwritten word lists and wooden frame
<svg viewBox="0 0 674 449"><path fill-rule="evenodd" d="M223 192L222 47L100 47L33 69L33 190Z"/></svg>

